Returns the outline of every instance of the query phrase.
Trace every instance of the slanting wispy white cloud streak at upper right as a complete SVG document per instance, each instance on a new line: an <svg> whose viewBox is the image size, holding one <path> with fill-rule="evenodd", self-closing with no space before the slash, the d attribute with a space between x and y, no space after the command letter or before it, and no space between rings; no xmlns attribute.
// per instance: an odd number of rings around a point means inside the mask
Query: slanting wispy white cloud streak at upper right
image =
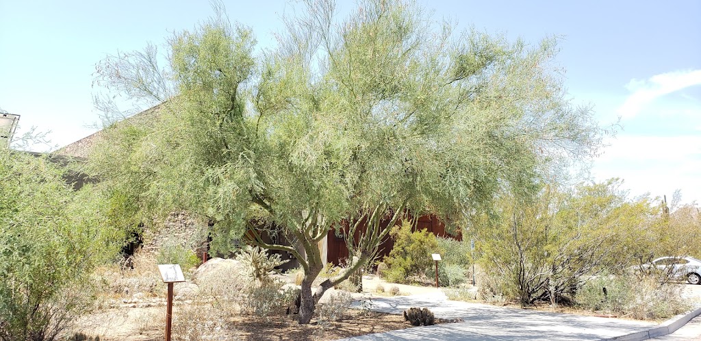
<svg viewBox="0 0 701 341"><path fill-rule="evenodd" d="M632 79L625 86L631 94L618 108L618 114L623 119L630 119L655 98L696 85L701 85L701 69L668 72L652 76L650 79Z"/></svg>

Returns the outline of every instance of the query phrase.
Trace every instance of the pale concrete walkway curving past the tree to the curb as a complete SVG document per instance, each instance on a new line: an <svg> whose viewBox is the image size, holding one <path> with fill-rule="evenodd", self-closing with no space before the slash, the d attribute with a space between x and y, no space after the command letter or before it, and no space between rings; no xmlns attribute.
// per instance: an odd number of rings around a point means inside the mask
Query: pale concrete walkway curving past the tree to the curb
<svg viewBox="0 0 701 341"><path fill-rule="evenodd" d="M655 326L655 323L644 321L449 301L442 293L374 298L371 309L401 314L409 307L428 307L436 317L461 318L463 322L393 330L344 340L601 340Z"/></svg>

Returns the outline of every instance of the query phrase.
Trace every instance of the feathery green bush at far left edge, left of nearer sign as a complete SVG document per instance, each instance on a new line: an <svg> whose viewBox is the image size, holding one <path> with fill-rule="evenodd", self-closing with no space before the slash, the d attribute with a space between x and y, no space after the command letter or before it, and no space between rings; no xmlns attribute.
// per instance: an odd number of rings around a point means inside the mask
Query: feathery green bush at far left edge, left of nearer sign
<svg viewBox="0 0 701 341"><path fill-rule="evenodd" d="M55 340L92 300L100 230L47 156L0 148L0 340Z"/></svg>

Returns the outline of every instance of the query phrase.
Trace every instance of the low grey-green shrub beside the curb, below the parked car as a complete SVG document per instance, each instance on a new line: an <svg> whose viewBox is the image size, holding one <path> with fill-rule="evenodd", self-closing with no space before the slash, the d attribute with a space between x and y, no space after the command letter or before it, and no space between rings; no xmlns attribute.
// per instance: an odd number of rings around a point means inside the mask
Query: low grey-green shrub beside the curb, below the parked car
<svg viewBox="0 0 701 341"><path fill-rule="evenodd" d="M660 284L653 276L608 275L587 281L575 298L580 307L592 311L634 319L663 319L689 308L682 291L683 286Z"/></svg>

